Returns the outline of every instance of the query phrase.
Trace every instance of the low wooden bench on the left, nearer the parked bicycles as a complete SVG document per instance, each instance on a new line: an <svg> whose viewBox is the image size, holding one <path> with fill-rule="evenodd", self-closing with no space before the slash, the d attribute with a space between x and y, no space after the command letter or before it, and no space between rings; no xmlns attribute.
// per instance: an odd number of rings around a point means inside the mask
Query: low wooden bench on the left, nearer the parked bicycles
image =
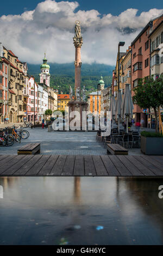
<svg viewBox="0 0 163 256"><path fill-rule="evenodd" d="M40 143L30 143L17 150L17 155L40 154Z"/></svg>

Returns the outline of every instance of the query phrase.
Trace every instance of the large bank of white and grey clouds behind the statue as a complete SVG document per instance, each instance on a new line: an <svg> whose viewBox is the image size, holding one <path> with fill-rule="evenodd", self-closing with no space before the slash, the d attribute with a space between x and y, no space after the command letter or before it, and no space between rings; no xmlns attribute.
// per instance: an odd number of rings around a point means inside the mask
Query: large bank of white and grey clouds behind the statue
<svg viewBox="0 0 163 256"><path fill-rule="evenodd" d="M123 51L149 20L163 13L151 9L137 16L137 9L127 9L120 15L100 15L98 10L78 10L78 2L46 0L35 10L20 15L0 17L0 41L22 61L41 63L47 52L48 62L70 63L74 60L74 23L82 26L83 63L115 65L118 41L126 41ZM124 34L124 28L134 29Z"/></svg>

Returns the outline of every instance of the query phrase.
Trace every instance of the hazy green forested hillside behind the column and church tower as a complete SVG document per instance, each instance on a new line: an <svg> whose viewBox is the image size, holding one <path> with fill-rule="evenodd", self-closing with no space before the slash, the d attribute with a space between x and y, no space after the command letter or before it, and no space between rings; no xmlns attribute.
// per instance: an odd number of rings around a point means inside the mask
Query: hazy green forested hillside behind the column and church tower
<svg viewBox="0 0 163 256"><path fill-rule="evenodd" d="M51 65L51 87L58 89L59 93L69 93L69 86L74 89L74 64L56 64ZM113 66L104 64L83 64L81 75L81 86L85 86L87 93L96 90L100 76L103 76L105 87L111 85ZM40 65L28 64L28 74L34 75L36 82L39 82Z"/></svg>

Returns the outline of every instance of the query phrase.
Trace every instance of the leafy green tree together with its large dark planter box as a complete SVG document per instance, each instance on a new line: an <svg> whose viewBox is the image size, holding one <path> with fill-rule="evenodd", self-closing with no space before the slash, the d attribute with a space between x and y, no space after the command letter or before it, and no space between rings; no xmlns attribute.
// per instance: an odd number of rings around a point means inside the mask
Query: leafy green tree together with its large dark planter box
<svg viewBox="0 0 163 256"><path fill-rule="evenodd" d="M141 132L141 151L147 155L163 155L163 136L158 127L158 112L163 106L163 76L156 80L153 76L139 80L134 93L134 103L141 108L153 108L155 114L155 132Z"/></svg>

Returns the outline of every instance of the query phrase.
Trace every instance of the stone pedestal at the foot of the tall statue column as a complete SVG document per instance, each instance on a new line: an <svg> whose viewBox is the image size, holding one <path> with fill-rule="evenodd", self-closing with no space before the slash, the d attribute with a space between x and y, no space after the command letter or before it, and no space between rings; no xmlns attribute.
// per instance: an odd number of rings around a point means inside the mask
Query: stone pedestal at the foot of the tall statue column
<svg viewBox="0 0 163 256"><path fill-rule="evenodd" d="M86 130L86 119L83 120L83 112L87 111L87 103L85 101L69 101L68 102L68 108L69 108L69 117L70 117L70 123L74 119L74 117L71 117L72 111L78 111L80 113L80 121L79 124L76 127L76 130ZM85 128L85 129L84 129ZM71 130L71 127L70 127Z"/></svg>

